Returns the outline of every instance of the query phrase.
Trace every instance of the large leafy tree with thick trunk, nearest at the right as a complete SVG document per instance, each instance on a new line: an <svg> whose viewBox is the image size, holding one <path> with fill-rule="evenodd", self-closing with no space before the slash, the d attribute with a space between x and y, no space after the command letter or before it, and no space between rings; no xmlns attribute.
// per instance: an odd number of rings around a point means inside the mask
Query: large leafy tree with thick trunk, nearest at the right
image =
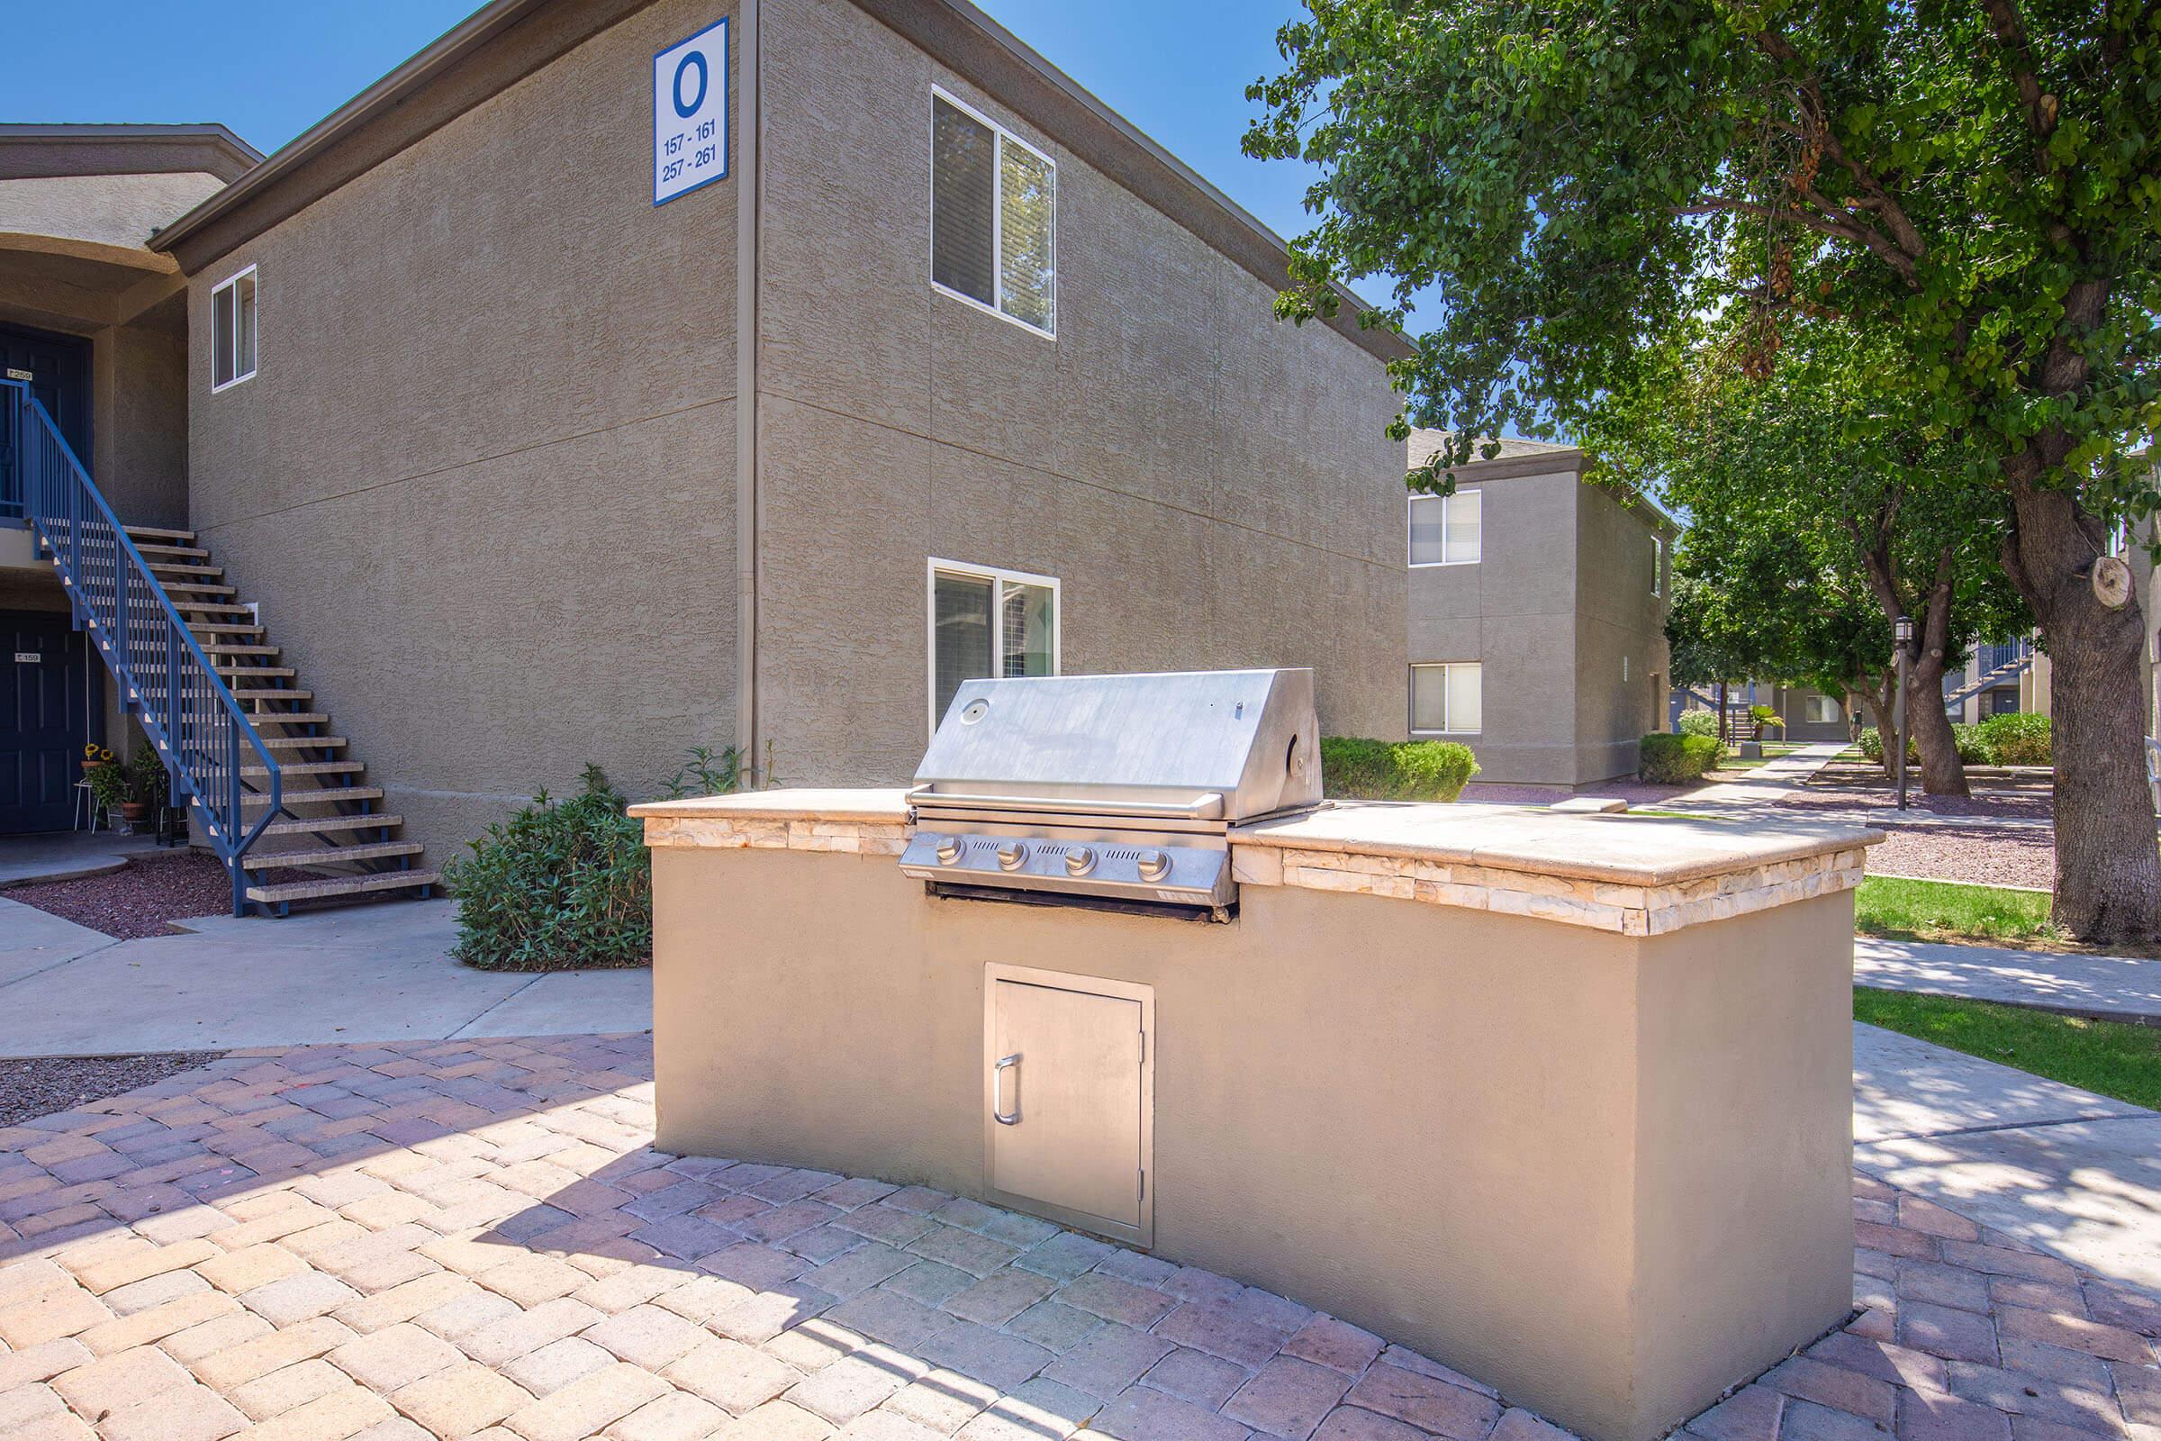
<svg viewBox="0 0 2161 1441"><path fill-rule="evenodd" d="M1264 158L1320 166L1279 311L1409 328L1405 423L1584 426L1714 315L1735 367L1820 320L1897 356L2055 661L2055 918L2161 929L2137 603L2092 564L2155 510L2161 9L2150 0L1307 0L1253 86Z"/></svg>

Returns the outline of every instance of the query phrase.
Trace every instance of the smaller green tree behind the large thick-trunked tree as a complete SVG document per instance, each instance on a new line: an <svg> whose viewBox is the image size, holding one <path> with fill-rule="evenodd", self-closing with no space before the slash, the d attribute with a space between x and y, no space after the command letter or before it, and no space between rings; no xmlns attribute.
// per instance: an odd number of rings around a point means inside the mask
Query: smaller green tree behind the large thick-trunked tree
<svg viewBox="0 0 2161 1441"><path fill-rule="evenodd" d="M1681 566L1714 590L1744 585L1733 624L1763 609L1781 635L1768 674L1843 672L1843 687L1882 700L1869 709L1889 728L1882 687L1897 674L1895 622L1910 616L1906 724L1921 784L1967 795L1943 678L1971 639L2031 627L1997 562L2001 497L1967 480L1958 436L1932 434L1904 391L1878 382L1891 356L1854 346L1843 326L1796 322L1768 376L1733 374L1744 339L1703 326L1670 365L1645 365L1634 389L1610 395L1593 432L1616 471L1703 516Z"/></svg>

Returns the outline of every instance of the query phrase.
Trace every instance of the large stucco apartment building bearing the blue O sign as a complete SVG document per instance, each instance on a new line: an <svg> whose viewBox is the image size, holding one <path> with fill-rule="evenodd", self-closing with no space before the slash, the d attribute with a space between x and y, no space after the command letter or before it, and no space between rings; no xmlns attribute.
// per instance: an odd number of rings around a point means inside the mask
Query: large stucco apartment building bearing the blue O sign
<svg viewBox="0 0 2161 1441"><path fill-rule="evenodd" d="M1281 242L962 0L497 0L121 231L186 296L93 473L156 410L121 519L437 853L694 743L901 780L968 674L1405 735L1398 341L1279 324Z"/></svg>

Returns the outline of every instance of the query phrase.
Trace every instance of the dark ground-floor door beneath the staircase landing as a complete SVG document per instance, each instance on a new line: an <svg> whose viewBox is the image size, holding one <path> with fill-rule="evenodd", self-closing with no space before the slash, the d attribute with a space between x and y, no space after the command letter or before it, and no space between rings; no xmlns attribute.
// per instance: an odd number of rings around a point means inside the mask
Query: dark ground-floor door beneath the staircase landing
<svg viewBox="0 0 2161 1441"><path fill-rule="evenodd" d="M0 611L0 836L73 825L91 683L67 611Z"/></svg>

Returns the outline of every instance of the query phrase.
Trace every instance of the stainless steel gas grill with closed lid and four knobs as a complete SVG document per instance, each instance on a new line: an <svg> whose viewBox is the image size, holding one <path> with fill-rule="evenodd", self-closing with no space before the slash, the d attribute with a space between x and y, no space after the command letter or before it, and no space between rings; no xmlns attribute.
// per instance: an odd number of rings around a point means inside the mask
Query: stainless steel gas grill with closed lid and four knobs
<svg viewBox="0 0 2161 1441"><path fill-rule="evenodd" d="M1227 920L1230 827L1320 804L1314 672L968 681L908 802L936 894Z"/></svg>

